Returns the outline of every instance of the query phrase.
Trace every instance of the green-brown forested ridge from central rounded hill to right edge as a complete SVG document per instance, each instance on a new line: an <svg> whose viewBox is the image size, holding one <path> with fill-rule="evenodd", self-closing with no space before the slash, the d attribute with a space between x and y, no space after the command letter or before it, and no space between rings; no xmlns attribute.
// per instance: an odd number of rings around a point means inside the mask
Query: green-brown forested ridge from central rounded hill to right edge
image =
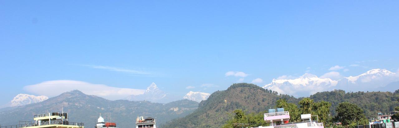
<svg viewBox="0 0 399 128"><path fill-rule="evenodd" d="M289 103L297 104L302 98L277 94L272 90L265 90L255 84L239 83L231 85L227 90L211 94L205 101L199 103L194 113L179 119L174 119L162 128L220 128L231 117L235 109L243 109L247 113L267 111L274 108L278 99L287 99ZM399 90L392 92L349 92L334 90L318 92L312 96L314 101L328 101L332 103L330 111L335 115L339 103L348 101L356 103L365 111L367 118L376 117L379 112L393 111L399 106Z"/></svg>

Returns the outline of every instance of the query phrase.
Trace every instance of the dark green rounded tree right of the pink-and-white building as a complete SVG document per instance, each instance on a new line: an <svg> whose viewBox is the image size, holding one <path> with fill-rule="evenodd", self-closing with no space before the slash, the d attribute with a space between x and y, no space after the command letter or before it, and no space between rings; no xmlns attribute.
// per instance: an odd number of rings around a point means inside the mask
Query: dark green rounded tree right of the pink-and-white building
<svg viewBox="0 0 399 128"><path fill-rule="evenodd" d="M341 122L347 128L368 123L363 110L354 103L342 102L335 111L337 113L335 120Z"/></svg>

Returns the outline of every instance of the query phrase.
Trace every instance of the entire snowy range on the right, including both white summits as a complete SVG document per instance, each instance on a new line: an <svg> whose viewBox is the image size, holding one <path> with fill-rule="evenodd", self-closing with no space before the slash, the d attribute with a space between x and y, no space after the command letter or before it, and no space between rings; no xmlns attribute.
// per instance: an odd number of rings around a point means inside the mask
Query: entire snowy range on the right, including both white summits
<svg viewBox="0 0 399 128"><path fill-rule="evenodd" d="M344 77L341 80L318 78L316 75L305 73L296 79L273 79L270 84L263 86L281 94L292 96L309 96L316 92L340 89L345 91L383 91L387 85L399 81L399 75L386 69L372 69L358 76ZM392 89L393 91L396 89Z"/></svg>

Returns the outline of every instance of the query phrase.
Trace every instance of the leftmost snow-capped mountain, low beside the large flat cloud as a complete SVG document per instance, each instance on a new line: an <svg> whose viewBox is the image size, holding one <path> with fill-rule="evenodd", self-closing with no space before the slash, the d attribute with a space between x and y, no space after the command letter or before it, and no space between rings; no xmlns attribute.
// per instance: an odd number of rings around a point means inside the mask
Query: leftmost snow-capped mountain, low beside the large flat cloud
<svg viewBox="0 0 399 128"><path fill-rule="evenodd" d="M47 97L47 96L34 96L34 95L28 95L28 94L18 94L17 96L14 97L14 99L11 100L10 107L27 105L27 104L31 104L31 103L38 103L38 102L44 101L48 98L49 97Z"/></svg>

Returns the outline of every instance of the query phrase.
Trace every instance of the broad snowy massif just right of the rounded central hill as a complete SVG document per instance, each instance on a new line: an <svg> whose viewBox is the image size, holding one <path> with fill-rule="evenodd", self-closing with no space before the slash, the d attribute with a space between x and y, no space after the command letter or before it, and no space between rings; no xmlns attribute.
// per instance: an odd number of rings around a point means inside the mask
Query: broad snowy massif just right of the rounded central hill
<svg viewBox="0 0 399 128"><path fill-rule="evenodd" d="M281 94L290 94L293 96L309 96L316 92L321 92L326 87L335 86L338 82L330 78L318 78L316 75L305 73L296 79L276 80L273 79L270 84L263 86Z"/></svg>

